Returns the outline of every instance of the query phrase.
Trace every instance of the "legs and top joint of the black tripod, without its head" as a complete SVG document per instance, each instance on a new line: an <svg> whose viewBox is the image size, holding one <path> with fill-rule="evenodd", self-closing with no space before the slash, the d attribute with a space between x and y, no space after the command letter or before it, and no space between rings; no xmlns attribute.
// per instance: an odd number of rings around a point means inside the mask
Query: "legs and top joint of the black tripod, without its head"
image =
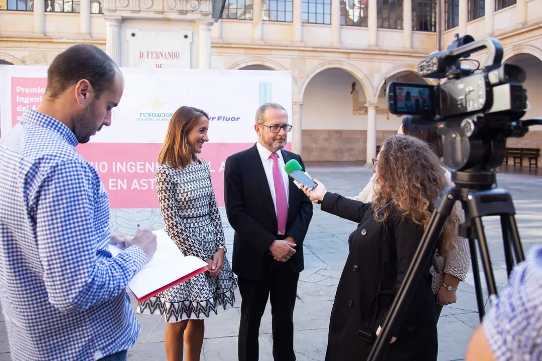
<svg viewBox="0 0 542 361"><path fill-rule="evenodd" d="M470 178L475 175L467 172L452 172L452 174L460 176L460 178ZM491 175L493 175L494 178L494 174L487 174L487 178L491 179ZM480 174L476 174L476 176L478 176L479 180ZM480 321L484 315L484 302L481 290L480 271L478 267L478 257L476 255L475 239L478 240L480 247L483 271L486 275L489 294L497 293L495 279L493 277L493 270L491 268L491 260L489 259L487 240L483 232L482 217L499 215L501 218L501 229L508 275L512 272L512 268L514 266L511 244L514 249L517 262L522 262L525 259L519 239L518 226L514 218L515 209L512 202L512 196L508 193L508 191L501 188L478 191L475 189L473 190L458 186L448 187L444 195L439 197L436 202L435 211L433 212L428 226L425 229L420 245L418 246L416 254L414 255L414 260L410 264L410 267L406 273L406 278L397 291L396 297L393 299L390 312L388 313L388 316L386 316L384 324L382 325L382 333L380 333L380 336L377 337L376 343L369 355L369 361L378 361L383 359L387 345L389 344L391 337L399 324L399 321L401 321L400 317L402 317L406 312L406 307L408 307L410 303L412 293L415 291L417 283L420 281L421 276L425 272L428 272L427 266L430 258L433 257L433 251L435 249L434 246L436 245L438 236L440 235L440 231L444 225L444 221L446 221L450 215L456 200L461 201L461 205L466 216L466 222L459 226L459 235L460 237L467 238L469 241L470 258L473 266L476 301L478 303ZM427 312L429 311L430 310Z"/></svg>

